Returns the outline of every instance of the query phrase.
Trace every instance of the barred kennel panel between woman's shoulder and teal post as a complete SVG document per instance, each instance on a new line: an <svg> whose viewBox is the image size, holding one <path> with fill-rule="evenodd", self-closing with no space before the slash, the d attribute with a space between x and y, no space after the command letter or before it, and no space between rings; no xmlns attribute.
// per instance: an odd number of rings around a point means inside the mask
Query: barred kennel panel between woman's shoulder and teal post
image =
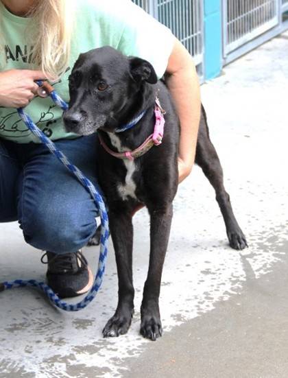
<svg viewBox="0 0 288 378"><path fill-rule="evenodd" d="M134 0L163 23L183 43L195 64L203 62L202 0Z"/></svg>

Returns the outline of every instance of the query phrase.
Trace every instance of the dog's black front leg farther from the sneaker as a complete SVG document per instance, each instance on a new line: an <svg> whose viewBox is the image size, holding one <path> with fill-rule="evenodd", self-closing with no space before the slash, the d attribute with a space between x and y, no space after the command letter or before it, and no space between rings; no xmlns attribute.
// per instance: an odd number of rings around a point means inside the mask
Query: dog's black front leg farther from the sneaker
<svg viewBox="0 0 288 378"><path fill-rule="evenodd" d="M160 209L149 209L150 257L147 280L144 286L141 305L141 329L145 338L156 340L162 335L162 324L159 311L159 294L163 263L169 241L172 204Z"/></svg>

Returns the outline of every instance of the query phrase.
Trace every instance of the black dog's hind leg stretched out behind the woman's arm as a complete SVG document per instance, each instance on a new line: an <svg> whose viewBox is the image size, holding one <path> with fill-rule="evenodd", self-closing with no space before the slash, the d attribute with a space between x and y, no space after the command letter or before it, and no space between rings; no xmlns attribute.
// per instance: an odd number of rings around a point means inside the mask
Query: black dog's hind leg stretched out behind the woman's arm
<svg viewBox="0 0 288 378"><path fill-rule="evenodd" d="M209 137L206 114L203 106L197 139L195 163L202 168L206 178L208 178L215 189L216 200L224 217L230 246L237 250L242 250L247 247L248 244L232 211L230 197L224 188L223 170L215 147Z"/></svg>

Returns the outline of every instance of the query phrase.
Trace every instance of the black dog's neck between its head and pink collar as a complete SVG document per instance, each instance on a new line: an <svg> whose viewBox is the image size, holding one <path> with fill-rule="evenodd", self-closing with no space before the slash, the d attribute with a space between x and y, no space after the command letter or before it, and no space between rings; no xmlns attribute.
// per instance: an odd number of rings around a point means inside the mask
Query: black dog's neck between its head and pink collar
<svg viewBox="0 0 288 378"><path fill-rule="evenodd" d="M156 99L156 86L151 84L143 84L138 93L134 93L128 103L122 110L122 115L119 116L119 125L121 126L129 123L146 110L145 115L133 128L123 132L101 132L101 137L115 152L123 152L127 150L134 150L139 147L143 141L152 134L154 125L149 125L145 122L146 117L149 119L154 113ZM145 122L145 128L141 127ZM148 127L147 127L148 126Z"/></svg>

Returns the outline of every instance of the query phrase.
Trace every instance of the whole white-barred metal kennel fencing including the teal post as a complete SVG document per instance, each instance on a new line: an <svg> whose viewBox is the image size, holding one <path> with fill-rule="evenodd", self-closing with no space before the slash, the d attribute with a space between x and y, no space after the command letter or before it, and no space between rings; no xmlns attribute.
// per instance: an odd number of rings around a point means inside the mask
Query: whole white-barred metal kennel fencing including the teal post
<svg viewBox="0 0 288 378"><path fill-rule="evenodd" d="M206 35L209 38L213 39L211 30L215 29L215 44L209 39L206 45L205 73L204 4L209 9L208 5L211 5L214 0L132 1L171 29L193 56L202 80L203 75L210 74L207 68L209 62L213 62L213 59L215 62L219 61L220 51L216 51L221 45L217 39L220 36L219 28L222 27L223 30L221 64L231 62L288 29L288 0L221 0L221 7L219 7L220 2L215 0L215 5L218 6L217 12L218 14L222 12L222 17L219 19L215 17L212 21L211 17L205 19L206 32L208 30L210 33ZM216 25L217 22L218 25ZM211 24L208 25L208 23ZM221 64L219 64L219 69L221 69ZM215 63L214 66L216 67L217 64Z"/></svg>

